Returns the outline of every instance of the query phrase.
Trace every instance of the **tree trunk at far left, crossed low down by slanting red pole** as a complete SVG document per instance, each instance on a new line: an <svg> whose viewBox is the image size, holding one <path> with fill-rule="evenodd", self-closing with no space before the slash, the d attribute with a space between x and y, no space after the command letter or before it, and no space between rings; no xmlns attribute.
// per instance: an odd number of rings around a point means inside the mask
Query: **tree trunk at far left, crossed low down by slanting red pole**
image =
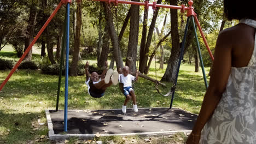
<svg viewBox="0 0 256 144"><path fill-rule="evenodd" d="M27 50L27 47L30 45L30 43L33 41L33 35L34 35L34 25L36 23L37 19L37 0L33 0L31 2L30 7L30 17L28 19L28 26L26 31L26 39L25 39L25 48L24 51ZM32 50L31 48L30 52L27 53L24 61L31 61L32 59Z"/></svg>

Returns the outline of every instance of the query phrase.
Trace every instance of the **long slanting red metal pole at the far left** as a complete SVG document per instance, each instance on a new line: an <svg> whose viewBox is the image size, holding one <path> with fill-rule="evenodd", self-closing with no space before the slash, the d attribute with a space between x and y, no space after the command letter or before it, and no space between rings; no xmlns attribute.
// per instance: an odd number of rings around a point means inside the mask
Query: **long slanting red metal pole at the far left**
<svg viewBox="0 0 256 144"><path fill-rule="evenodd" d="M50 15L49 19L44 23L44 26L40 29L40 31L37 33L36 37L33 39L33 41L31 42L31 44L27 47L27 50L23 53L23 55L21 56L21 58L19 59L19 61L15 64L15 66L13 67L13 69L10 71L9 75L6 77L6 79L3 81L3 83L0 86L0 91L2 90L2 88L4 87L5 83L7 83L7 81L10 79L11 75L13 75L14 71L19 67L20 63L22 62L22 60L25 58L25 56L27 55L27 53L30 51L30 49L32 48L32 46L34 45L34 43L36 43L37 39L40 37L40 35L43 33L44 29L46 28L46 26L49 24L49 22L51 21L51 19L53 19L53 17L55 16L55 14L57 13L57 11L61 8L61 5L63 4L63 1L61 1L59 3L59 5L57 5L57 8L53 11L53 13Z"/></svg>

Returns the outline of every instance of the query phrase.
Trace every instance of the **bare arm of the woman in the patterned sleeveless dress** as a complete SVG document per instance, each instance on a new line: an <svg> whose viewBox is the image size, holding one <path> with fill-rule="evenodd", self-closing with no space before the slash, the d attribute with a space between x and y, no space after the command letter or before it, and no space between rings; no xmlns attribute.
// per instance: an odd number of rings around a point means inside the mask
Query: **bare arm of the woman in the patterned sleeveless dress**
<svg viewBox="0 0 256 144"><path fill-rule="evenodd" d="M209 87L203 99L199 116L195 122L192 133L187 143L198 143L201 130L212 116L216 106L222 98L226 83L231 71L232 42L228 31L221 32L218 36L214 52L213 71Z"/></svg>

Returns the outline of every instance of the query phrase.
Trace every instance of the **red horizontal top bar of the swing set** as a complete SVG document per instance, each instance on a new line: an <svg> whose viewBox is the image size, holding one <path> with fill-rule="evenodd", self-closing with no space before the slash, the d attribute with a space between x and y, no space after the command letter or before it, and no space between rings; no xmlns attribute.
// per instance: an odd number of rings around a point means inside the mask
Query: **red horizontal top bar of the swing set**
<svg viewBox="0 0 256 144"><path fill-rule="evenodd" d="M133 1L122 1L122 0L94 0L94 1L100 1L100 2L108 2L108 3L124 3L124 4L135 4L135 5L144 5L147 6L146 3L143 2L133 2ZM154 7L153 3L148 3L149 7ZM169 9L184 9L182 6L177 6L177 5L167 5L167 4L156 4L156 7L159 8L169 8ZM185 7L185 10L188 10L188 7Z"/></svg>

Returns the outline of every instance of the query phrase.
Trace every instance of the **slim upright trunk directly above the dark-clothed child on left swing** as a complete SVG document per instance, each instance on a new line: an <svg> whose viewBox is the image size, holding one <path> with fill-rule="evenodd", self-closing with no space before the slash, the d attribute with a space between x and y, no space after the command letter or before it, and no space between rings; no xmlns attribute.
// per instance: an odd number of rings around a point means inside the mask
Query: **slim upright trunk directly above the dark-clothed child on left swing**
<svg viewBox="0 0 256 144"><path fill-rule="evenodd" d="M98 45L97 45L97 63L100 61L101 56L101 46L102 46L102 8L100 4L100 14L98 15Z"/></svg>

